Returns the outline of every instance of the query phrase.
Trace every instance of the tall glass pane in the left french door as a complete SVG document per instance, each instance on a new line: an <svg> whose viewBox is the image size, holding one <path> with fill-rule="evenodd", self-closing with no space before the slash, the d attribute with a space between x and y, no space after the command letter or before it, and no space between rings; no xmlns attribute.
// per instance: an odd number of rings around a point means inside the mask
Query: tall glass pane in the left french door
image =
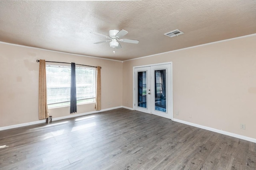
<svg viewBox="0 0 256 170"><path fill-rule="evenodd" d="M147 72L138 72L138 107L147 108Z"/></svg>

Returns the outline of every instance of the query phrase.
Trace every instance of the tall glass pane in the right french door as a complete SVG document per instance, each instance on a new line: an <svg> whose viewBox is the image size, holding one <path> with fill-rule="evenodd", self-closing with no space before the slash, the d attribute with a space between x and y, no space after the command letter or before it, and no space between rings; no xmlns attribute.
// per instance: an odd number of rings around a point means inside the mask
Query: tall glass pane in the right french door
<svg viewBox="0 0 256 170"><path fill-rule="evenodd" d="M166 70L155 70L155 110L166 112Z"/></svg>

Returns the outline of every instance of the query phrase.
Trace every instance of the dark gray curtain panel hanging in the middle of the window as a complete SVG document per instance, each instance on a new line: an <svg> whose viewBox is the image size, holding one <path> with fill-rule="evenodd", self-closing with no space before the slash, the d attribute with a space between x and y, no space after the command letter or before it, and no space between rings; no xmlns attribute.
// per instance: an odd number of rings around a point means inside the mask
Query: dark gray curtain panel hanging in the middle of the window
<svg viewBox="0 0 256 170"><path fill-rule="evenodd" d="M77 112L76 106L76 63L71 63L70 113Z"/></svg>

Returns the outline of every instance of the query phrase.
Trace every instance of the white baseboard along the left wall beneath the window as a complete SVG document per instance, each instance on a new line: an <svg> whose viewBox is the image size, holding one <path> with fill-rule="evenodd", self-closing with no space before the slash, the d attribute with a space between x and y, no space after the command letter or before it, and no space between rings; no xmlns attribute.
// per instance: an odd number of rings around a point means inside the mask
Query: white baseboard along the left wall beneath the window
<svg viewBox="0 0 256 170"><path fill-rule="evenodd" d="M111 107L111 108L108 108L108 109L102 109L100 111L90 111L90 112L86 112L86 113L70 114L68 116L56 117L56 118L53 117L52 121L61 120L61 119L68 119L68 118L71 118L71 117L78 117L78 116L83 116L83 115L89 115L89 114L93 114L93 113L99 113L99 112L102 112L102 111L119 109L119 108L122 108L122 107L123 106ZM127 107L127 108L129 108L129 107ZM0 131L7 130L7 129L12 129L12 128L17 128L17 127L28 126L28 125L35 125L35 124L45 123L45 122L46 122L46 120L39 120L39 121L32 121L32 122L28 122L28 123L21 123L21 124L17 124L17 125L4 126L4 127L0 127Z"/></svg>

